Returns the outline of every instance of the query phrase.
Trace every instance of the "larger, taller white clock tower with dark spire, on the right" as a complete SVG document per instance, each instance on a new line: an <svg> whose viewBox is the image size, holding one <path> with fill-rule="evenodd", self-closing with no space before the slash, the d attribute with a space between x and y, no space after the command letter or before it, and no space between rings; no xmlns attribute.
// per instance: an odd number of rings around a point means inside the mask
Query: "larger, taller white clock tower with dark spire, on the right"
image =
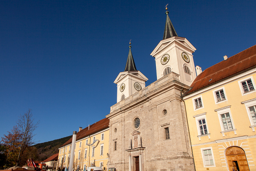
<svg viewBox="0 0 256 171"><path fill-rule="evenodd" d="M166 22L163 40L158 43L150 54L155 58L157 79L174 72L180 75L182 83L190 86L196 78L192 55L196 48L186 38L177 35L168 15L168 8L166 7L165 9Z"/></svg>

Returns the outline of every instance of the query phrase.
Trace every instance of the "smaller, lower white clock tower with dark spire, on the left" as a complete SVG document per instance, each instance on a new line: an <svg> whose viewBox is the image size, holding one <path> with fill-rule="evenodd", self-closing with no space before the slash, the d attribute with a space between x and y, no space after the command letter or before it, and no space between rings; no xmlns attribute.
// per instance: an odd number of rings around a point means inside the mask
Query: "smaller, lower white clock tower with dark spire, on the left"
<svg viewBox="0 0 256 171"><path fill-rule="evenodd" d="M131 47L130 41L125 69L118 74L114 81L114 83L117 84L117 103L145 88L145 82L148 80L145 75L136 69Z"/></svg>

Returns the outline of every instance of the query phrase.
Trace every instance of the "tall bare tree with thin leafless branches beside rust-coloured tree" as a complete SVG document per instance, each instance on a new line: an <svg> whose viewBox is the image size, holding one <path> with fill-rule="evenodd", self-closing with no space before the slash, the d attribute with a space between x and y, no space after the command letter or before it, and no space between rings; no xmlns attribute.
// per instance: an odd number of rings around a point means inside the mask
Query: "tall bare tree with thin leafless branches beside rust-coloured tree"
<svg viewBox="0 0 256 171"><path fill-rule="evenodd" d="M34 131L37 128L39 121L34 121L32 110L29 109L23 115L20 114L17 124L20 133L22 133L22 143L19 149L18 162L16 164L19 165L25 149L36 142L34 140L34 136L36 135Z"/></svg>

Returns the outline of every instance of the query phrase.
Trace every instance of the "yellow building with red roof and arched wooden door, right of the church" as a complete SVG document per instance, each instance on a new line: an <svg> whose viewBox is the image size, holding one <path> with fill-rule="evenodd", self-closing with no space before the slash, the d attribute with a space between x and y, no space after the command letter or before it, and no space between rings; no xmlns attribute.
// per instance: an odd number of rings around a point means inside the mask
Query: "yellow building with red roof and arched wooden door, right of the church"
<svg viewBox="0 0 256 171"><path fill-rule="evenodd" d="M183 95L196 170L256 170L256 45L196 71Z"/></svg>

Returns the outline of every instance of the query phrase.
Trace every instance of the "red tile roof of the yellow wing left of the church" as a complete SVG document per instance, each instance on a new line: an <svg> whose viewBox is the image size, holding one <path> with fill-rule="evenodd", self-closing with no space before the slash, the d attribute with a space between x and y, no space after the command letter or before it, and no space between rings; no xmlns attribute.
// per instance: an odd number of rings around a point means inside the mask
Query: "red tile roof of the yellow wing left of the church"
<svg viewBox="0 0 256 171"><path fill-rule="evenodd" d="M82 129L81 131L79 131L78 133L76 133L76 140L82 139L86 136L89 136L95 132L101 131L102 129L105 129L108 127L109 127L109 119L104 118L104 119L90 125L89 130L88 130L89 127L86 127L84 129ZM65 145L71 144L71 143L72 143L72 137L67 142L65 142L63 145L61 145L60 147L63 147Z"/></svg>

